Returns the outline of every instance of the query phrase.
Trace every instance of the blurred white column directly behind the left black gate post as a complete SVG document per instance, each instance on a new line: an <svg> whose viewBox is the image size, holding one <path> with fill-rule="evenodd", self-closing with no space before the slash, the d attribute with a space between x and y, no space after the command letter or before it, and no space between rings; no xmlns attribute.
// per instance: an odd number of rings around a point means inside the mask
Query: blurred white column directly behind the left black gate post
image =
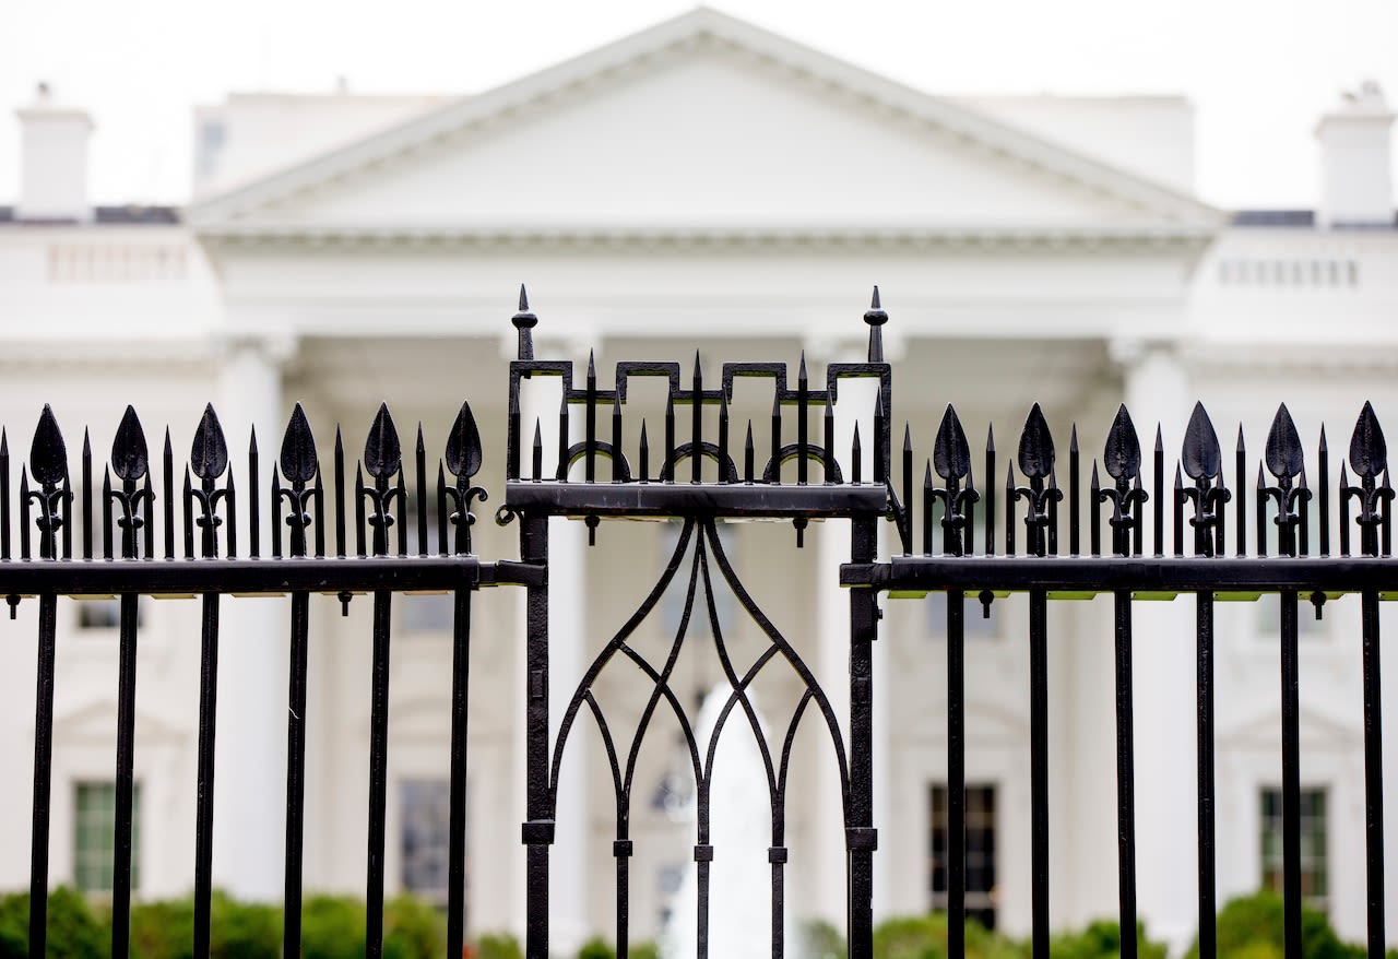
<svg viewBox="0 0 1398 959"><path fill-rule="evenodd" d="M558 354L558 349L549 349L547 345L537 352L540 356L554 356ZM575 361L575 376L580 382L586 365ZM558 468L558 410L561 400L561 380L558 377L540 377L526 383L524 389L521 389L520 433L523 449L520 466L524 475L531 468L535 418L538 419L544 443L544 475L552 477ZM572 418L570 433L580 436L582 408L579 407L573 412L576 415ZM577 688L577 682L583 677L583 671L587 668L584 569L587 559L587 528L583 523L565 519L549 520L548 720L551 742L556 742L563 713ZM523 610L520 628L521 630L524 628ZM519 649L524 649L523 633ZM519 668L517 688L524 689L523 654L519 658ZM521 710L516 721L523 721ZM593 828L587 801L590 773L587 747L589 738L593 735L589 728L590 723L591 717L586 710L579 714L569 735L563 766L559 773L558 825L554 846L549 851L549 949L559 955L576 952L584 939L594 931L598 931L593 928L593 917L589 914L587 889L590 886L590 872L611 875L610 861L598 860L591 864L591 871L589 870L587 849ZM519 772L520 783L523 784L523 737L520 738L520 747ZM521 802L520 809L523 811L523 808ZM520 889L523 891L523 885Z"/></svg>

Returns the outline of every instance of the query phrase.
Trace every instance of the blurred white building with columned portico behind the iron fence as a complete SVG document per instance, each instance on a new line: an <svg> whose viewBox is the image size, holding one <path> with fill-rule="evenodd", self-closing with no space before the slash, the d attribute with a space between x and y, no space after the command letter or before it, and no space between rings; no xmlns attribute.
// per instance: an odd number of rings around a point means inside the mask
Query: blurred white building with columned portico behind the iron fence
<svg viewBox="0 0 1398 959"><path fill-rule="evenodd" d="M1318 117L1324 175L1304 210L1195 199L1183 99L939 98L707 10L467 98L229 95L194 116L194 196L178 208L94 207L92 117L53 91L41 88L18 119L21 183L0 207L0 421L17 459L43 403L70 450L87 426L101 459L127 403L152 442L168 424L176 450L206 401L235 449L256 428L274 450L299 400L323 449L338 424L356 453L380 400L404 432L421 421L429 450L470 400L487 445L484 485L495 492L507 319L521 280L541 317L540 356L586 362L596 349L604 383L618 359L686 361L695 349L714 368L794 365L804 351L821 376L826 362L858 358L860 313L878 282L892 315L895 419L924 442L948 403L972 436L994 424L1012 449L1039 401L1060 446L1075 425L1089 456L1123 401L1142 442L1159 422L1169 459L1195 400L1226 447L1241 426L1254 452L1283 400L1309 449L1323 424L1332 449L1346 449L1364 400L1398 424L1392 113L1373 85ZM541 394L534 407L556 410L556 396L548 403ZM735 397L735 410L744 403L761 445L766 411L754 397ZM842 431L858 417L844 414ZM541 421L545 450L555 449L554 419ZM477 552L516 555L514 528L485 519ZM674 545L665 526L604 526L593 549L576 524L554 534L552 695L563 702L563 677L580 675ZM839 524L826 527L791 559L788 527L734 526L731 552L772 619L837 688L847 636L835 570L849 547ZM612 549L642 559L621 562ZM794 587L815 576L829 589ZM28 879L32 605L0 633L0 762L14 773L0 794L0 847L13 853L0 857L3 888ZM733 615L734 642L755 642L755 626L719 605ZM886 916L942 903L946 812L944 607L885 607L875 903ZM215 884L275 899L285 616L275 600L225 608ZM387 851L390 888L443 899L449 612L433 597L396 610ZM1025 932L1028 616L1014 600L997 601L988 619L979 612L967 618L969 882L979 917ZM1192 621L1186 601L1153 612L1137 618L1139 902L1155 935L1183 944L1195 927ZM1051 615L1053 918L1075 925L1116 911L1110 607L1055 604ZM368 604L341 619L327 597L313 616L305 878L355 892ZM152 601L143 618L137 891L164 896L192 884L197 611ZM646 626L657 643L675 629L671 614L658 619ZM1357 601L1331 604L1306 623L1302 650L1303 870L1311 900L1356 939L1357 622ZM110 881L115 623L110 604L60 605L52 875L95 892ZM467 889L475 931L523 923L520 635L520 597L480 598ZM698 654L682 675L696 695L721 678ZM625 677L611 681L622 700L633 695ZM1398 675L1387 686L1398 688ZM1220 902L1279 874L1278 702L1275 608L1230 604L1218 647ZM1385 721L1398 742L1398 709ZM633 823L633 939L656 934L672 909L692 843L667 735L656 730L637 787L650 798ZM788 903L843 924L833 769L815 740L797 755ZM1385 772L1398 783L1398 759ZM566 786L554 858L561 945L605 935L614 917L611 784L596 741ZM1390 823L1395 807L1390 787ZM1398 861L1398 828L1388 861Z"/></svg>

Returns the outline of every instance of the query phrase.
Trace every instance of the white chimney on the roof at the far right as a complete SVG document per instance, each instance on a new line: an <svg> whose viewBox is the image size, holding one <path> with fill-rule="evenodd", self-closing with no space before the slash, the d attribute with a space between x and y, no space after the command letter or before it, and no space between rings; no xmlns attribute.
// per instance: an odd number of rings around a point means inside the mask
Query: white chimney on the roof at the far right
<svg viewBox="0 0 1398 959"><path fill-rule="evenodd" d="M1394 115L1378 84L1366 81L1345 94L1339 109L1316 126L1320 140L1321 226L1373 226L1394 222L1394 183L1388 127Z"/></svg>

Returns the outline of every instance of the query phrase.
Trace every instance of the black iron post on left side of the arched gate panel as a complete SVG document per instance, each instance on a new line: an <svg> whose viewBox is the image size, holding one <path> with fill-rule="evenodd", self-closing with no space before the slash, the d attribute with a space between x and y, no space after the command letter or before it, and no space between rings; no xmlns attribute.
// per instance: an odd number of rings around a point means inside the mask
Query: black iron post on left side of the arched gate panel
<svg viewBox="0 0 1398 959"><path fill-rule="evenodd" d="M548 847L554 814L548 798L548 516L520 517L520 559L542 566L526 593L524 787L521 836L526 853L524 953L548 959Z"/></svg>

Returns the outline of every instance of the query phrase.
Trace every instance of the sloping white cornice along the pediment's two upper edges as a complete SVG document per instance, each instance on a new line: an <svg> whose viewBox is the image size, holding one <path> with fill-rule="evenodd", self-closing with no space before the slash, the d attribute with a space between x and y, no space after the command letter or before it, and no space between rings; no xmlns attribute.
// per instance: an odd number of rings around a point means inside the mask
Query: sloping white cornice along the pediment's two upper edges
<svg viewBox="0 0 1398 959"><path fill-rule="evenodd" d="M1186 193L705 7L477 96L454 101L348 147L200 200L189 207L189 221L196 226L236 222L303 193L382 169L412 154L495 123L517 119L533 109L554 105L601 84L618 82L629 74L651 68L664 56L703 46L726 49L763 63L819 87L826 95L842 95L871 110L925 123L1011 162L1124 201L1153 219L1205 228L1225 221L1220 211Z"/></svg>

